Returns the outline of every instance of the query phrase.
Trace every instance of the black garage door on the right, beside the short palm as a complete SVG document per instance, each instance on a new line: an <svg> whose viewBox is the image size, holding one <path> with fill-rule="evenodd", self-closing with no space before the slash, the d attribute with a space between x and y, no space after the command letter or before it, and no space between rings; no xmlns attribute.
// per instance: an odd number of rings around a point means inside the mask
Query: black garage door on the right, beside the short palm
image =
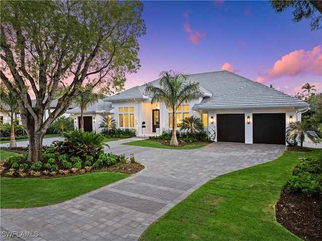
<svg viewBox="0 0 322 241"><path fill-rule="evenodd" d="M253 114L253 143L285 144L285 113Z"/></svg>

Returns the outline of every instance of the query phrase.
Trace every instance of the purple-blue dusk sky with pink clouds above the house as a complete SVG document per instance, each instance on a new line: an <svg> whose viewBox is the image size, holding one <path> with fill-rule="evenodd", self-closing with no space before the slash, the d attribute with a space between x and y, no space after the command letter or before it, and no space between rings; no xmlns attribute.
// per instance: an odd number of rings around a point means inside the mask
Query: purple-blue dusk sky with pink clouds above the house
<svg viewBox="0 0 322 241"><path fill-rule="evenodd" d="M310 83L322 92L322 31L292 21L268 1L143 1L146 35L141 68L125 89L153 81L164 70L226 69L294 95Z"/></svg>

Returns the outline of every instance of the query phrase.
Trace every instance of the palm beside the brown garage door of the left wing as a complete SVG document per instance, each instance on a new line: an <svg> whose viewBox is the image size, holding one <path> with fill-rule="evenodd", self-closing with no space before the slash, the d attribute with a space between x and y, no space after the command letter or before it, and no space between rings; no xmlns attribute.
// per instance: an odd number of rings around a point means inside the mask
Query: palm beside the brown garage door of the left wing
<svg viewBox="0 0 322 241"><path fill-rule="evenodd" d="M83 113L86 111L89 105L93 105L99 99L102 99L101 94L93 93L93 87L91 85L86 86L85 90L79 95L75 102L81 108L81 130L84 131L84 118Z"/></svg>

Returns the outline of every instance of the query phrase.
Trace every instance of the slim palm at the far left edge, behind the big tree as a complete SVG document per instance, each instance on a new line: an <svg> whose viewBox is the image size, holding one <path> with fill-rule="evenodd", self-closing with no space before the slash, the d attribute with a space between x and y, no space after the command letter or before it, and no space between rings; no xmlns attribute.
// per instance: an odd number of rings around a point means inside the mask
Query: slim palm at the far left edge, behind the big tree
<svg viewBox="0 0 322 241"><path fill-rule="evenodd" d="M9 106L10 111L7 111L5 105ZM17 147L16 137L15 137L15 122L14 114L18 111L19 106L15 96L4 87L0 87L0 109L2 112L7 113L11 116L11 133L10 133L10 148Z"/></svg>

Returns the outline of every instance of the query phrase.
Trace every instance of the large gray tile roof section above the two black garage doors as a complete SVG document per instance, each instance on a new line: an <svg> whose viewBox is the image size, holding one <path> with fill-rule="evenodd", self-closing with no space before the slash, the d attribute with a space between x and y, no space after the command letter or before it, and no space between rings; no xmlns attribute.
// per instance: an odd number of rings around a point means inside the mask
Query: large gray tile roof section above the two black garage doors
<svg viewBox="0 0 322 241"><path fill-rule="evenodd" d="M305 108L309 106L295 97L227 70L190 74L189 79L199 82L212 94L210 98L204 98L193 109Z"/></svg>

